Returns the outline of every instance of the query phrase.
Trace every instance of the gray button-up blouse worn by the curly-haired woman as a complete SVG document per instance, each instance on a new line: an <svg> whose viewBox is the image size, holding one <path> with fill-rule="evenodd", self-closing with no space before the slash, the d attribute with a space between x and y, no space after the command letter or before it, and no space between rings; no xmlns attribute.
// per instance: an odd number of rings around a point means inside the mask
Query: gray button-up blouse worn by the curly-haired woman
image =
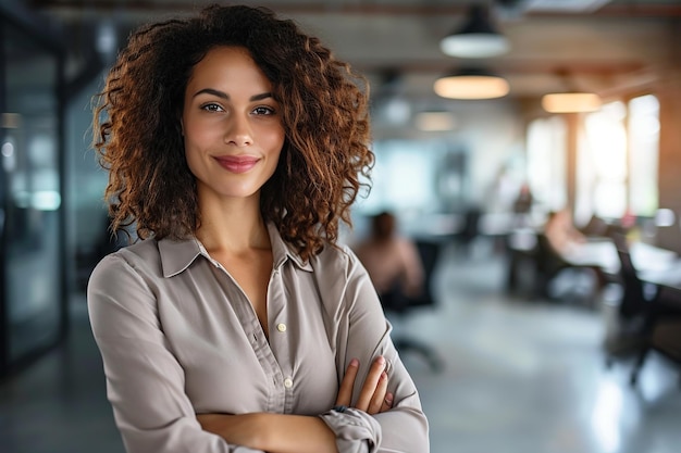
<svg viewBox="0 0 681 453"><path fill-rule="evenodd" d="M326 247L304 262L269 231L269 341L244 291L196 239L144 240L95 268L90 323L126 450L255 452L203 431L196 414L271 412L322 417L342 453L429 452L417 389L359 260ZM393 408L331 410L349 361L360 361L359 382L380 354Z"/></svg>

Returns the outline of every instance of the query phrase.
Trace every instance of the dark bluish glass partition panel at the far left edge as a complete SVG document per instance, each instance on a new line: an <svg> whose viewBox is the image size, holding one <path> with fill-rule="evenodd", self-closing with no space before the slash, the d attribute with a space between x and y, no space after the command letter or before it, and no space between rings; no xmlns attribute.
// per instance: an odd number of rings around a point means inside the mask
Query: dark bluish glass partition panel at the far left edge
<svg viewBox="0 0 681 453"><path fill-rule="evenodd" d="M66 328L61 53L0 11L0 376Z"/></svg>

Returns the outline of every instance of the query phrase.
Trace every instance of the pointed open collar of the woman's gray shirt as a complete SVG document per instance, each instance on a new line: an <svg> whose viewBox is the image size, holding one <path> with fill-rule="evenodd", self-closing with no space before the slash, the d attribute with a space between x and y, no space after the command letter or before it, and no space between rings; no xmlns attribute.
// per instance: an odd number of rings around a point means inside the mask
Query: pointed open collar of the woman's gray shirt
<svg viewBox="0 0 681 453"><path fill-rule="evenodd" d="M296 250L282 239L274 224L268 223L268 232L272 244L274 269L281 268L287 260L290 260L302 270L312 270L310 263L302 260ZM195 237L184 240L161 239L158 243L165 278L184 272L199 255L212 262L203 244Z"/></svg>

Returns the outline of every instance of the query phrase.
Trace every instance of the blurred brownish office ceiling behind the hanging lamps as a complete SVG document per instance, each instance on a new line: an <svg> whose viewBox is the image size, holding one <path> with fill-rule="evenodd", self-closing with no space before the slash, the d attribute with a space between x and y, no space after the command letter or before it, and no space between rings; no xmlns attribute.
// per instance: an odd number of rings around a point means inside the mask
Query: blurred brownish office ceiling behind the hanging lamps
<svg viewBox="0 0 681 453"><path fill-rule="evenodd" d="M25 0L63 24L74 55L87 53L101 27L124 41L136 25L189 13L210 0ZM270 7L319 35L338 56L369 76L373 93L438 104L435 79L457 67L505 76L509 99L536 100L568 88L607 96L645 84L681 41L681 0L242 0ZM505 55L482 61L444 55L439 39L462 24L472 3L491 7L510 40ZM676 38L676 39L674 39ZM74 60L77 58L74 56ZM449 101L451 102L451 101Z"/></svg>

